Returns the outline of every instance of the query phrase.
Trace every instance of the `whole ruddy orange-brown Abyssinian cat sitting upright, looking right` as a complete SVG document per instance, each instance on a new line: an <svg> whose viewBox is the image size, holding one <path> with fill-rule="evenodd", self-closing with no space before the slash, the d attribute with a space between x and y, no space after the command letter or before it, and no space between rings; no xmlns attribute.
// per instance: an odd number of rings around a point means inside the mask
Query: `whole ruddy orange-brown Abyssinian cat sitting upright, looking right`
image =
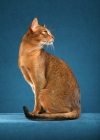
<svg viewBox="0 0 100 140"><path fill-rule="evenodd" d="M20 45L19 68L34 92L34 110L23 107L31 120L77 119L81 113L80 89L74 74L64 61L43 49L53 41L51 32L35 18Z"/></svg>

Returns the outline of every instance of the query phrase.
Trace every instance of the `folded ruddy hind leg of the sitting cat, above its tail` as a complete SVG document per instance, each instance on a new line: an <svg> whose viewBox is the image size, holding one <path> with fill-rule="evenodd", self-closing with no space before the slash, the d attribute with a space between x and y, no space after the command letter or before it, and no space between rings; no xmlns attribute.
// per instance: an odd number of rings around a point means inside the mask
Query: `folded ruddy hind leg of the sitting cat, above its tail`
<svg viewBox="0 0 100 140"><path fill-rule="evenodd" d="M70 106L58 97L59 93L55 90L43 89L39 95L39 102L47 113L70 112Z"/></svg>

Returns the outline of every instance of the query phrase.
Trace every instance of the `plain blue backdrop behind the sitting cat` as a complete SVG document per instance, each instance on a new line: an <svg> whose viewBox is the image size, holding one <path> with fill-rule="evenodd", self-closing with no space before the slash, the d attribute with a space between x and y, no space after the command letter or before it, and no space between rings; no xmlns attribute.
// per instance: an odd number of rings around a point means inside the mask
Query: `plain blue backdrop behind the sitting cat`
<svg viewBox="0 0 100 140"><path fill-rule="evenodd" d="M81 89L82 112L100 112L100 0L0 1L0 112L33 109L33 93L18 68L19 45L33 18L55 36L55 50Z"/></svg>

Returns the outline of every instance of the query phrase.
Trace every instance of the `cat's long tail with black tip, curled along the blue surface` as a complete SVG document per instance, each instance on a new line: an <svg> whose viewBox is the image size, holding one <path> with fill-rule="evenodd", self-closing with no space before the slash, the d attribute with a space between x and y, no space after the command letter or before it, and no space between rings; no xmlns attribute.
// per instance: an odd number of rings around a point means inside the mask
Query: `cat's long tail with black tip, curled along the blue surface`
<svg viewBox="0 0 100 140"><path fill-rule="evenodd" d="M80 116L80 109L75 109L68 113L55 113L55 114L32 114L26 106L23 107L25 116L30 120L72 120Z"/></svg>

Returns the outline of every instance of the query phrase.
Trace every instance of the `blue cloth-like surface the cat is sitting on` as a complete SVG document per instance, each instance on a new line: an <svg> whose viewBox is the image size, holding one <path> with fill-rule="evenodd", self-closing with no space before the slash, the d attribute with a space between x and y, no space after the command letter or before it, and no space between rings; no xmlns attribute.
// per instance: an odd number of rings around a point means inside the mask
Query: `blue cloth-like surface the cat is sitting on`
<svg viewBox="0 0 100 140"><path fill-rule="evenodd" d="M0 140L100 140L100 113L76 120L31 121L23 113L0 113Z"/></svg>

